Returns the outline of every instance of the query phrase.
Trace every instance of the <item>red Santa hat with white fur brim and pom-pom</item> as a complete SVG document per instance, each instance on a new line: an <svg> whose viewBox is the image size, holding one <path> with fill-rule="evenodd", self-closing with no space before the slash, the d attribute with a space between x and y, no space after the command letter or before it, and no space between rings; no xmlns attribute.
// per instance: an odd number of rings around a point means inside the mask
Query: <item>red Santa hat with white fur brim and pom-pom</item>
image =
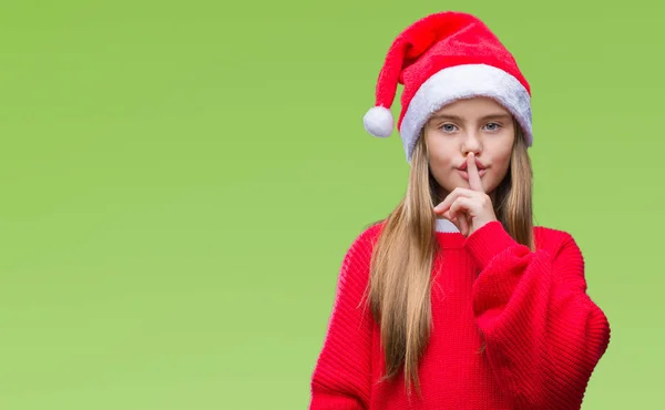
<svg viewBox="0 0 665 410"><path fill-rule="evenodd" d="M390 136L390 106L403 85L397 124L407 161L429 116L456 100L489 96L509 110L531 146L531 89L513 55L478 18L444 11L418 20L393 41L379 73L365 129Z"/></svg>

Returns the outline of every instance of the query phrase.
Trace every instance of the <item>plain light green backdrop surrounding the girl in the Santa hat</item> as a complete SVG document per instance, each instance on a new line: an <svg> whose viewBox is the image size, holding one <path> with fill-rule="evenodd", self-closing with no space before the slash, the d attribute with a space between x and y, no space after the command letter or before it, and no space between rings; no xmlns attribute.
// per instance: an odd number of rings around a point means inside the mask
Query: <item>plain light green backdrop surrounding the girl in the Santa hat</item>
<svg viewBox="0 0 665 410"><path fill-rule="evenodd" d="M341 258L406 187L362 115L443 8L532 85L535 222L612 326L583 408L658 407L665 30L608 4L2 2L0 409L305 409Z"/></svg>

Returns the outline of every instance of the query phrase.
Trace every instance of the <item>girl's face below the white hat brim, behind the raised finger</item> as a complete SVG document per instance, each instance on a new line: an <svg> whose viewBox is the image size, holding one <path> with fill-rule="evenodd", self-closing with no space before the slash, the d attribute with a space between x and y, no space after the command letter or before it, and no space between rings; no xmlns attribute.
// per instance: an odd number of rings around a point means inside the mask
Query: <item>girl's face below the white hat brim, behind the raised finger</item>
<svg viewBox="0 0 665 410"><path fill-rule="evenodd" d="M492 196L508 172L515 125L508 110L490 98L458 100L433 113L424 125L429 165L441 198L470 188L467 154L473 152L484 192Z"/></svg>

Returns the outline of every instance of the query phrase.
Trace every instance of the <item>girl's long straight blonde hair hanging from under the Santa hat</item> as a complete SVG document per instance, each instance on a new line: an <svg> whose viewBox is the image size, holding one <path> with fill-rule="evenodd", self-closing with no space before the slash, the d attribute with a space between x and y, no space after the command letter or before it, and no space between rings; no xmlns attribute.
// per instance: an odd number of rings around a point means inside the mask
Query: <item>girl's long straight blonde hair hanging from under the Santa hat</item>
<svg viewBox="0 0 665 410"><path fill-rule="evenodd" d="M393 379L403 370L409 393L415 385L420 394L418 362L430 336L431 270L438 249L432 207L440 201L421 133L411 161L407 193L385 219L375 246L366 293L380 326L386 359L381 381ZM494 213L518 243L534 248L532 167L516 122L509 172L495 189Z"/></svg>

